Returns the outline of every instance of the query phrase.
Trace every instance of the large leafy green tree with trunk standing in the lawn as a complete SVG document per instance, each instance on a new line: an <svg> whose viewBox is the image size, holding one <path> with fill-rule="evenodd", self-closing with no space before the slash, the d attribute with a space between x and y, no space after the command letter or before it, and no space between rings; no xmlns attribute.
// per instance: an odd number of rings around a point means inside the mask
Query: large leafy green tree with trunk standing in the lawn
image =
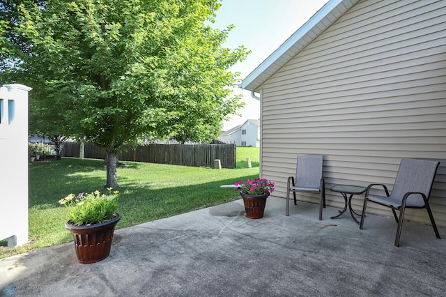
<svg viewBox="0 0 446 297"><path fill-rule="evenodd" d="M123 144L143 135L206 141L240 107L232 93L238 74L229 68L247 51L222 46L231 27L206 24L220 7L217 0L6 5L14 20L2 24L9 51L3 51L8 63L1 75L33 88L31 113L52 117L56 134L105 149L107 186L118 186Z"/></svg>

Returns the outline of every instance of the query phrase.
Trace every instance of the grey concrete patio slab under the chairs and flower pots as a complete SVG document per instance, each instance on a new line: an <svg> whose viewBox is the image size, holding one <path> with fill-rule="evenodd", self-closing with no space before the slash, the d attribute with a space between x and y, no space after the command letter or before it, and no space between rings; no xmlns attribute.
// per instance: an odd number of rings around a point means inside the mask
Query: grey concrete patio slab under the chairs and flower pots
<svg viewBox="0 0 446 297"><path fill-rule="evenodd" d="M269 197L265 216L243 201L115 231L110 256L79 264L73 243L0 259L0 296L445 296L446 240L430 225ZM446 236L446 228L439 228ZM10 287L8 287L10 288Z"/></svg>

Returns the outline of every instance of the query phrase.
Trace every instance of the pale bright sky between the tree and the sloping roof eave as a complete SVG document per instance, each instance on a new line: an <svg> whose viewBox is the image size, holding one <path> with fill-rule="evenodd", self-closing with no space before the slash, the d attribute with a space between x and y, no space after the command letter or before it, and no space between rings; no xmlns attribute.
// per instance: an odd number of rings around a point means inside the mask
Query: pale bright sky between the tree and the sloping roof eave
<svg viewBox="0 0 446 297"><path fill-rule="evenodd" d="M328 0L222 0L217 10L215 28L224 29L229 24L229 32L224 47L236 48L244 45L251 54L231 71L247 77L272 52L277 50L300 26L305 24ZM259 119L259 101L251 97L251 91L236 88L234 93L243 95L246 106L240 109L243 116L231 116L223 123L223 130L243 124L247 119Z"/></svg>

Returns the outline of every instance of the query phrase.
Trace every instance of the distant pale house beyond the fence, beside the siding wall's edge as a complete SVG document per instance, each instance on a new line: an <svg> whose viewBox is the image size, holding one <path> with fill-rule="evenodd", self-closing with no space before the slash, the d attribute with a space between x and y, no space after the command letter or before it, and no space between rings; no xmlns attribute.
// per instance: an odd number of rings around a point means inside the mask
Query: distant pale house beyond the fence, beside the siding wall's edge
<svg viewBox="0 0 446 297"><path fill-rule="evenodd" d="M236 125L222 132L220 141L238 146L260 146L260 121L248 119L243 125Z"/></svg>

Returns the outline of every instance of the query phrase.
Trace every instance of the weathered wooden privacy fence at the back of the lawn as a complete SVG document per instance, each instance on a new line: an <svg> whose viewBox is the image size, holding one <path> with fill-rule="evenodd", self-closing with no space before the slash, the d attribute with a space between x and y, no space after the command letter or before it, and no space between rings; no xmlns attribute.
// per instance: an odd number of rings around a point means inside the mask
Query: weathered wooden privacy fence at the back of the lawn
<svg viewBox="0 0 446 297"><path fill-rule="evenodd" d="M65 142L61 155L79 158L80 144ZM105 159L105 152L95 144L85 144L84 158ZM137 148L124 147L118 160L150 162L194 167L214 167L220 160L222 168L236 168L236 144L148 144Z"/></svg>

